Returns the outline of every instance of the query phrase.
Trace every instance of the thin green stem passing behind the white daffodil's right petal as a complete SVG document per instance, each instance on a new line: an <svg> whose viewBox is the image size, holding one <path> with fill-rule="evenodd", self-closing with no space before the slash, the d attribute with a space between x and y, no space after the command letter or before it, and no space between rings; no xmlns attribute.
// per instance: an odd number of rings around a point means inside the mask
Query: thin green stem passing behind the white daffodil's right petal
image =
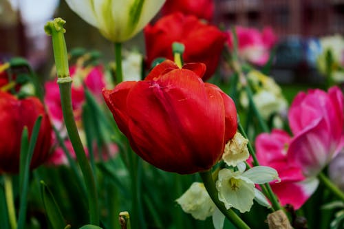
<svg viewBox="0 0 344 229"><path fill-rule="evenodd" d="M246 135L246 133L244 131L244 128L241 126L240 122L238 122L238 129L239 129L239 132L244 136L244 138L247 138L247 135ZM259 166L259 162L257 160L257 156L256 156L256 153L255 153L255 150L253 149L253 146L250 143L250 141L248 141L247 148L248 148L248 152L252 156L254 166ZM279 204L279 201L278 201L275 193L272 192L270 184L267 183L267 184L261 185L261 190L263 190L264 194L266 196L268 196L268 198L270 199L273 210L281 210L281 209L283 209L281 207L281 205Z"/></svg>

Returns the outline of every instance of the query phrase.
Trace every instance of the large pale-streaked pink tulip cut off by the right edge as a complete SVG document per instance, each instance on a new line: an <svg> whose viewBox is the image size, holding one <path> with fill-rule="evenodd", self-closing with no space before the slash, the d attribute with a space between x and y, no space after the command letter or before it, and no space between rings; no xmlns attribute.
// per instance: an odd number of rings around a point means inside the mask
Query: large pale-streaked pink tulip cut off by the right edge
<svg viewBox="0 0 344 229"><path fill-rule="evenodd" d="M294 134L288 162L307 177L317 175L343 148L344 98L338 87L328 93L312 89L299 93L288 113Z"/></svg>

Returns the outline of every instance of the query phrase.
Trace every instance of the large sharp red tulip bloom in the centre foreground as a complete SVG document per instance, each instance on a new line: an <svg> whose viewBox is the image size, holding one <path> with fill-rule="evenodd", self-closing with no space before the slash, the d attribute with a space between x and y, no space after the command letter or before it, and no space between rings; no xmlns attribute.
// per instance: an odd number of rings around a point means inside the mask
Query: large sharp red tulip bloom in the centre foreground
<svg viewBox="0 0 344 229"><path fill-rule="evenodd" d="M237 131L233 100L204 83L202 63L157 65L142 81L120 83L103 96L133 151L164 171L206 171Z"/></svg>

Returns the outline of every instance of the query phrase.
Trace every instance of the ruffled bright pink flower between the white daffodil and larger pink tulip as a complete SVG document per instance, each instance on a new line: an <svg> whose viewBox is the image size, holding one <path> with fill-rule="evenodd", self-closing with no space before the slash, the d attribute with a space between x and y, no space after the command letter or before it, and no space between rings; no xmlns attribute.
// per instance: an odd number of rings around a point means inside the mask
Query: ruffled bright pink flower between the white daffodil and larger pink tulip
<svg viewBox="0 0 344 229"><path fill-rule="evenodd" d="M274 129L272 133L261 133L255 141L256 155L260 165L275 168L281 182L270 183L274 193L284 206L291 204L295 209L307 201L318 186L316 179L306 179L301 167L288 163L287 149L291 138L285 131Z"/></svg>

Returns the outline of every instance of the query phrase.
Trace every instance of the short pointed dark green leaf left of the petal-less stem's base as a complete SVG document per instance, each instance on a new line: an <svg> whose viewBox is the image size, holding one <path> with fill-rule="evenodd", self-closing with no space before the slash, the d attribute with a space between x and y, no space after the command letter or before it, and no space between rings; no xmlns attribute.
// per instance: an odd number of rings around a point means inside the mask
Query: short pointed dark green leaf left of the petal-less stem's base
<svg viewBox="0 0 344 229"><path fill-rule="evenodd" d="M52 228L65 228L65 219L63 219L61 210L58 208L58 204L56 203L49 187L43 181L41 181L41 195L45 211L47 212L47 218L49 219Z"/></svg>

